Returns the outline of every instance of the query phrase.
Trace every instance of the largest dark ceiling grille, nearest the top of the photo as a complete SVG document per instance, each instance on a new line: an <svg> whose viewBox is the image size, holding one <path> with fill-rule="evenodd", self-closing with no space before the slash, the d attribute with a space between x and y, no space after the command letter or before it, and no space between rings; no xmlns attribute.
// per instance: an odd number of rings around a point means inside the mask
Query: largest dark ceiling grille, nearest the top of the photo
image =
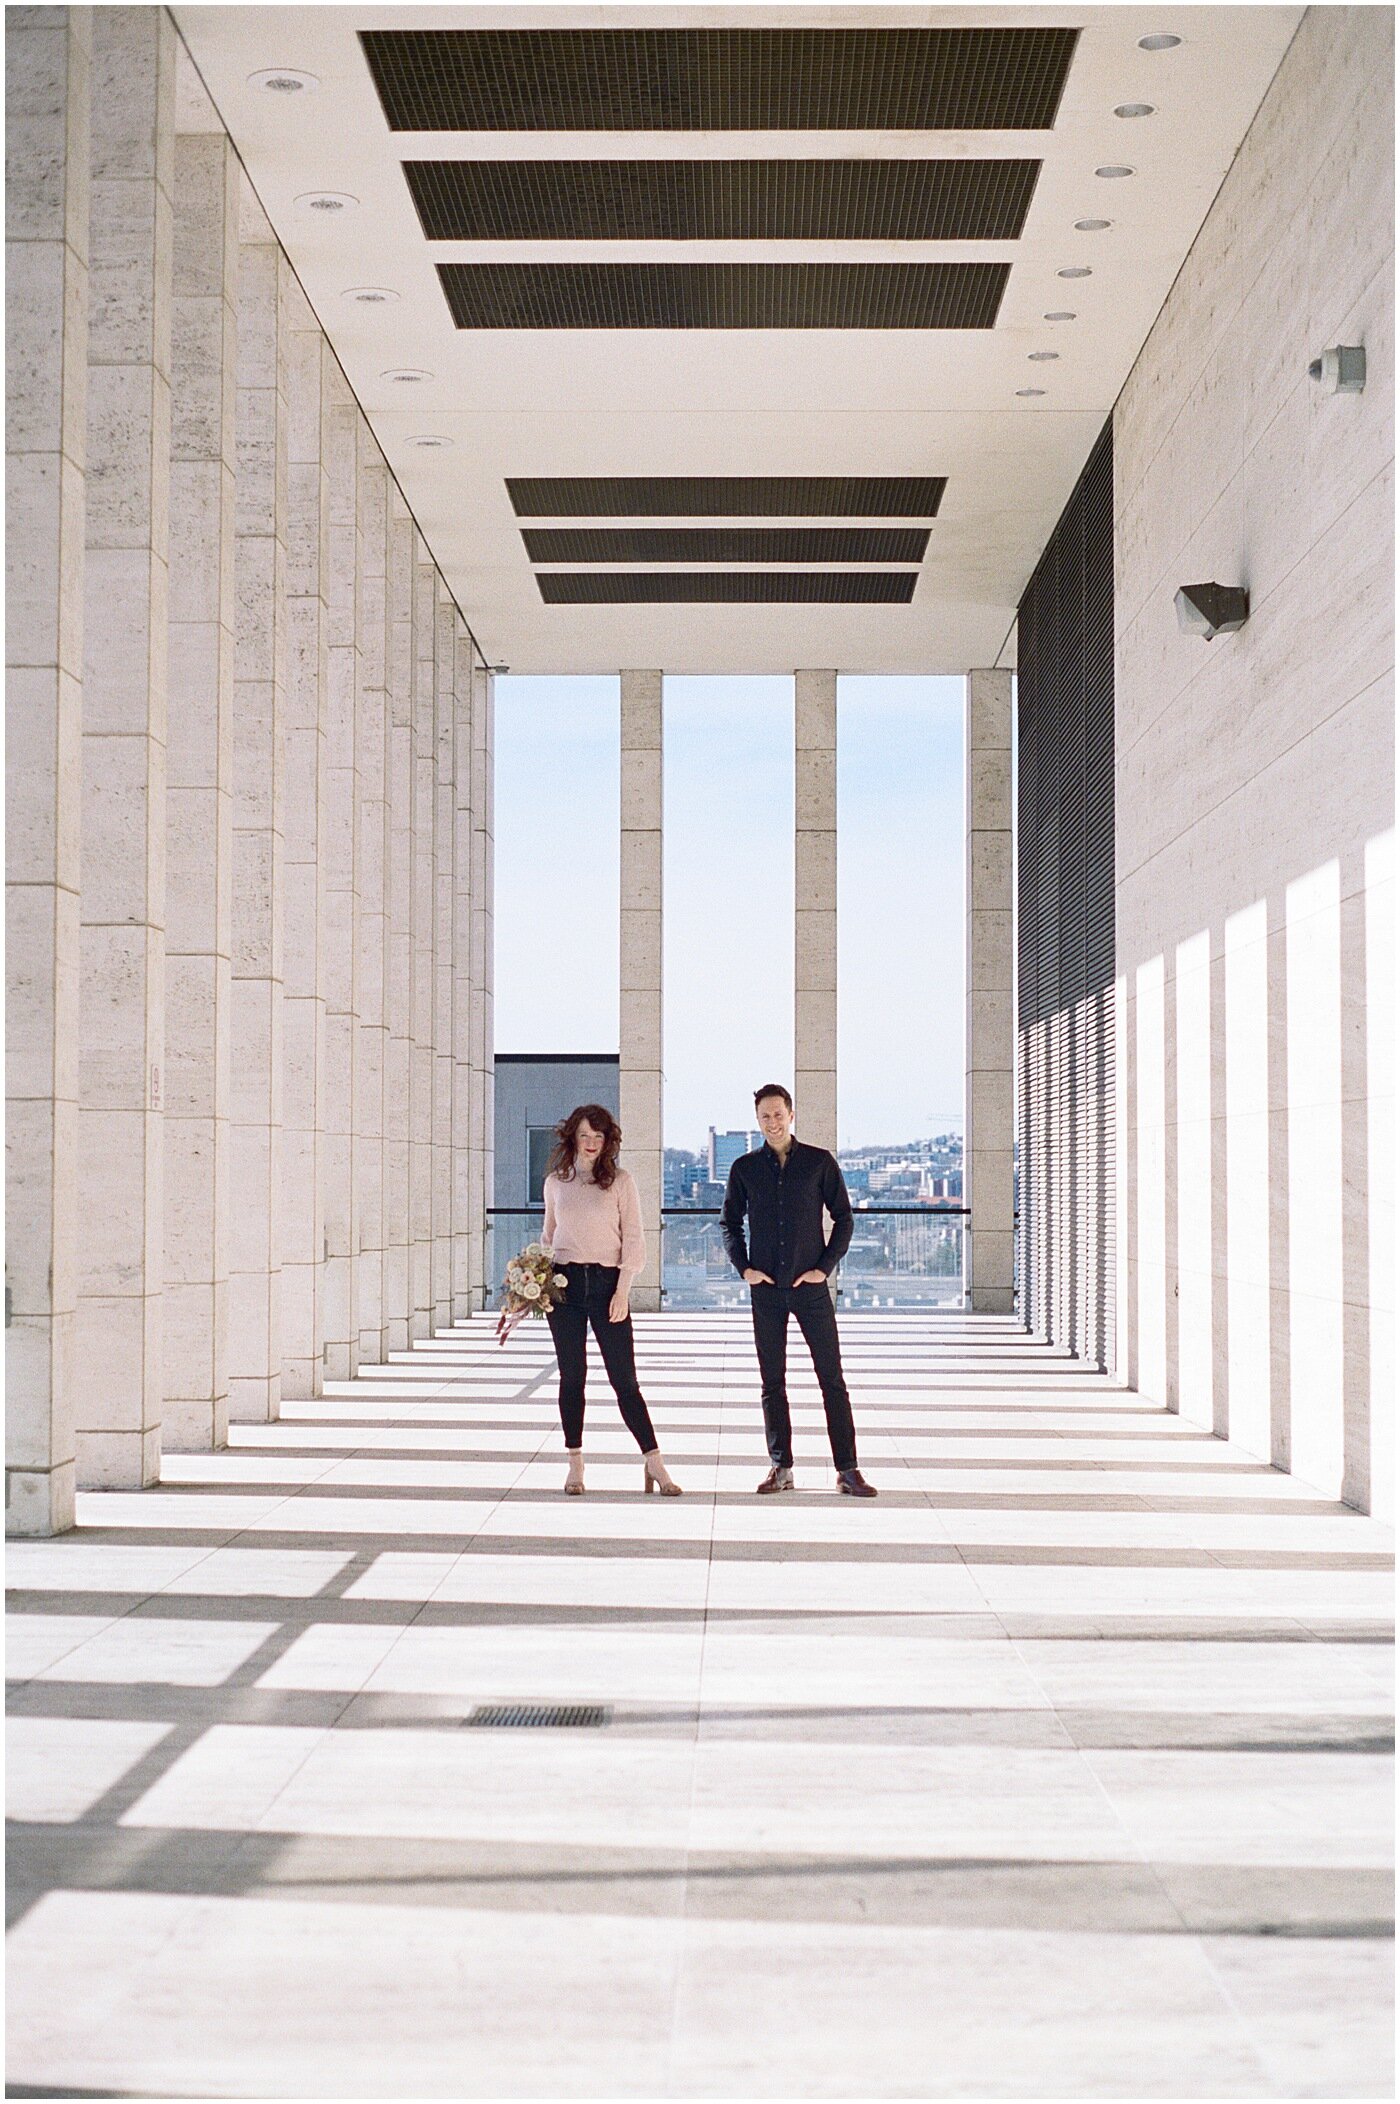
<svg viewBox="0 0 1400 2104"><path fill-rule="evenodd" d="M389 130L1046 130L1078 29L362 29Z"/></svg>

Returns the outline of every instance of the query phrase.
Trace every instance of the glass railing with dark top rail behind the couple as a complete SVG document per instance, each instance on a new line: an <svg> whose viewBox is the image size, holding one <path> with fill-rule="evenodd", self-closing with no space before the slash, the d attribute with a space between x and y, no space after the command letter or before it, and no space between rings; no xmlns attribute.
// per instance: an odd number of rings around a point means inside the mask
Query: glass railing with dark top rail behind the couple
<svg viewBox="0 0 1400 2104"><path fill-rule="evenodd" d="M486 1214L491 1302L509 1258L537 1241L539 1208L497 1206ZM962 1206L857 1206L851 1248L836 1273L842 1309L960 1309ZM667 1309L747 1309L749 1290L720 1239L718 1208L667 1206L661 1214L661 1302Z"/></svg>

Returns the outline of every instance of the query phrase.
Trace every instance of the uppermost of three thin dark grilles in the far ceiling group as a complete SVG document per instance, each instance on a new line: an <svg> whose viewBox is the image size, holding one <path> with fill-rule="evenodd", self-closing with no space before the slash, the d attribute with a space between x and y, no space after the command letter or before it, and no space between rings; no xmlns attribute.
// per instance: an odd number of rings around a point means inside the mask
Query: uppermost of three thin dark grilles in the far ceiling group
<svg viewBox="0 0 1400 2104"><path fill-rule="evenodd" d="M507 476L522 520L933 520L947 476Z"/></svg>

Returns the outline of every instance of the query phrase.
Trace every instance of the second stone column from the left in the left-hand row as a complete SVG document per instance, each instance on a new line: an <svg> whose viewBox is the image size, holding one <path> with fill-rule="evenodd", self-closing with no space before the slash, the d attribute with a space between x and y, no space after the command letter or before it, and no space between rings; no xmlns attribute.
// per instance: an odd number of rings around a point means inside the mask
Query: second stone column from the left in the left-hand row
<svg viewBox="0 0 1400 2104"><path fill-rule="evenodd" d="M160 1475L175 27L93 11L78 1481Z"/></svg>

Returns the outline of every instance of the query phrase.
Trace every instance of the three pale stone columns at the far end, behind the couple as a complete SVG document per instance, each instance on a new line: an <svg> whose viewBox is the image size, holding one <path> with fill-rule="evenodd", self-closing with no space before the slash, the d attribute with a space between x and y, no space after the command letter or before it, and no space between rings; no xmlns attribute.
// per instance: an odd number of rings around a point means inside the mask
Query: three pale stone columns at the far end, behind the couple
<svg viewBox="0 0 1400 2104"><path fill-rule="evenodd" d="M798 1130L836 1151L836 671L794 675L794 1100ZM1008 671L966 680L968 1307L1015 1300L1015 1014ZM663 673L621 675L619 1121L638 1182L646 1271L634 1304L661 1307L663 1119Z"/></svg>

